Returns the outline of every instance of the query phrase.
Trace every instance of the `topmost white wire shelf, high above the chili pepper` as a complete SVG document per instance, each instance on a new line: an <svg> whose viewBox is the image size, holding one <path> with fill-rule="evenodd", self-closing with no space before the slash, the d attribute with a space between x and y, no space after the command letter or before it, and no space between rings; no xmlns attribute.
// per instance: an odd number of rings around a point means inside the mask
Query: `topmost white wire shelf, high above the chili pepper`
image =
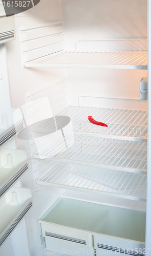
<svg viewBox="0 0 151 256"><path fill-rule="evenodd" d="M147 51L60 51L24 62L25 67L147 69Z"/></svg>

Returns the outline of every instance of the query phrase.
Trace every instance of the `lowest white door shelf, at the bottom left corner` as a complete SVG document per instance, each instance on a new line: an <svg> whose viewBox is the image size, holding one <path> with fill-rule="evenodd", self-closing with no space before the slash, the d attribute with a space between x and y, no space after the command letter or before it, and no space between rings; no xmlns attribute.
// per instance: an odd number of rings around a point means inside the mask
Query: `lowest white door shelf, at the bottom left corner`
<svg viewBox="0 0 151 256"><path fill-rule="evenodd" d="M12 187L0 200L0 246L32 207L32 193L28 188Z"/></svg>

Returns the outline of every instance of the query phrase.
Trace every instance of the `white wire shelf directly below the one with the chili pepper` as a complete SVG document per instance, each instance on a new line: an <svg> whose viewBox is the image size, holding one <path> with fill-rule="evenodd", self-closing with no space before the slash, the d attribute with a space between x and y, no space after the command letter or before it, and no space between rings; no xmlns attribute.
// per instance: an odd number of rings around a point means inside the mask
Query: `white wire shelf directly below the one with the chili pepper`
<svg viewBox="0 0 151 256"><path fill-rule="evenodd" d="M66 139L68 139L66 137ZM75 163L93 167L144 173L147 167L147 143L91 136L74 136L75 142L67 150L52 155L52 145L45 138L43 147L33 156L54 161ZM60 152L60 143L54 141L55 152Z"/></svg>

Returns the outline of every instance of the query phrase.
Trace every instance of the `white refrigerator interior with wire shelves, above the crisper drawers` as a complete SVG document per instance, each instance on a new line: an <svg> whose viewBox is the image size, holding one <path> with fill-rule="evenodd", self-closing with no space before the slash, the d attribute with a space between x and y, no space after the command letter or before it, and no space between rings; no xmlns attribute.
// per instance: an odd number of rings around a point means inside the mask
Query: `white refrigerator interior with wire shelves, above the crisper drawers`
<svg viewBox="0 0 151 256"><path fill-rule="evenodd" d="M139 83L147 76L147 1L41 0L15 15L15 33L6 43L7 67L11 107L26 125L15 140L29 157L20 178L33 194L27 240L29 255L42 256L38 220L60 197L144 216L147 100ZM11 256L19 255L17 236Z"/></svg>

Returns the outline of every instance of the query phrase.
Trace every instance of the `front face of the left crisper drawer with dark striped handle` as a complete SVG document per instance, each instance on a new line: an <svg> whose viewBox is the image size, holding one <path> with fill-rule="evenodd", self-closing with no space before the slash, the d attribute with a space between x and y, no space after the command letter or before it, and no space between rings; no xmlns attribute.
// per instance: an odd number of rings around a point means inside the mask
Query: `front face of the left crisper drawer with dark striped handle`
<svg viewBox="0 0 151 256"><path fill-rule="evenodd" d="M93 236L91 233L45 223L40 220L39 222L41 223L42 235L45 237L46 248L60 250L61 253L66 250L65 254L70 254L71 249L79 252L89 249L93 252ZM69 250L68 253L67 250Z"/></svg>

